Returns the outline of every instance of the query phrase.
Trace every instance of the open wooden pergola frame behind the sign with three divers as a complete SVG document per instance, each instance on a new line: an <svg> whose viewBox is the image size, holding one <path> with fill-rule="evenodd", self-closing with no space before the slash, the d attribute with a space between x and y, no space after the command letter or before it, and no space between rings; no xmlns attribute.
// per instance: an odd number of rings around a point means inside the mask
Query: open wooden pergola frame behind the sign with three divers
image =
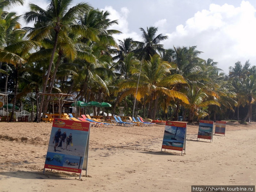
<svg viewBox="0 0 256 192"><path fill-rule="evenodd" d="M61 113L62 113L62 108L63 108L63 105L65 102L76 102L76 95L71 95L71 94L64 94L64 93L37 93L37 106L38 105L38 99L40 96L49 96L49 99L45 101L50 101L52 102L52 105L53 105L53 114L54 114L54 102L57 103L58 107L59 107L59 115L61 116ZM66 97L71 97L73 99L73 101L67 101L65 100ZM77 103L77 102L76 102ZM37 108L37 122L39 122L39 116L38 115L38 108ZM75 113L76 114L76 113ZM75 115L76 116L76 115Z"/></svg>

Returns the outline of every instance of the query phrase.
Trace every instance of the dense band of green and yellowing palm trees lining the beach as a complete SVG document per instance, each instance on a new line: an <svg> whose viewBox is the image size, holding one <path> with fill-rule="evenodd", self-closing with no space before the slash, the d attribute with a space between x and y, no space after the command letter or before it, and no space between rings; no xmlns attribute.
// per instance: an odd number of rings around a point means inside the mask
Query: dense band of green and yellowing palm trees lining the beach
<svg viewBox="0 0 256 192"><path fill-rule="evenodd" d="M8 12L23 3L0 0L0 91L13 111L15 105L34 110L37 93L67 93L109 102L112 114L125 106L132 115L136 101L135 115L151 119L256 120L256 66L249 60L226 75L213 59L200 58L196 46L165 49L168 37L157 27L140 28L141 41L116 41L121 31L110 29L118 21L108 11L50 0L46 10L30 4L22 16ZM33 27L21 28L22 17ZM39 114L49 112L49 96L39 103Z"/></svg>

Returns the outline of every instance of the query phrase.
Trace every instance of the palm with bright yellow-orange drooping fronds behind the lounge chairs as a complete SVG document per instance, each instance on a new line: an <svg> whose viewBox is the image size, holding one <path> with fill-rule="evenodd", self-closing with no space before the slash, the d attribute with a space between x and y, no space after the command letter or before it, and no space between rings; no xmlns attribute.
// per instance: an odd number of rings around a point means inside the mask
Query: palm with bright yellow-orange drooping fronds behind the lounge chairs
<svg viewBox="0 0 256 192"><path fill-rule="evenodd" d="M176 86L178 84L185 84L187 82L181 75L171 74L170 69L172 68L173 65L163 61L158 54L150 57L149 61L144 61L142 63L142 71L136 99L140 101L143 98L145 100L146 96L148 97L148 109L151 110L151 113L149 114L151 118L155 116L155 109L160 95L167 95L168 97L181 99L182 102L188 103L186 95L176 91ZM122 82L120 85L120 89L125 89L120 100L128 94L135 95L138 76L140 74L138 65L132 67L131 74L131 78ZM153 105L153 101L155 105Z"/></svg>

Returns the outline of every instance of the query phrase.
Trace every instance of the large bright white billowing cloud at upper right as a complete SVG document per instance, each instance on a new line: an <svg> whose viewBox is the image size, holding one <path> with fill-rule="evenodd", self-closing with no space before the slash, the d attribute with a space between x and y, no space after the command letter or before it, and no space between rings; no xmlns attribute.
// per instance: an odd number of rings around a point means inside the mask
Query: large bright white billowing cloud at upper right
<svg viewBox="0 0 256 192"><path fill-rule="evenodd" d="M197 12L185 26L179 25L176 31L167 34L165 48L197 45L197 50L204 52L203 59L214 59L226 73L238 60L256 62L255 12L248 1L242 1L236 8L211 4L209 10Z"/></svg>

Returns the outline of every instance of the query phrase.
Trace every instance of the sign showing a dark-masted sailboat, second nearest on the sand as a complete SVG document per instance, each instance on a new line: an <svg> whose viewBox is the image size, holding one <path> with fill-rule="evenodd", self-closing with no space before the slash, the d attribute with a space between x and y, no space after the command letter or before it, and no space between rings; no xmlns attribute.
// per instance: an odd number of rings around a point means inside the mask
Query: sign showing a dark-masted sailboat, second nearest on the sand
<svg viewBox="0 0 256 192"><path fill-rule="evenodd" d="M166 121L162 149L182 151L186 147L187 123ZM161 149L161 151L162 151Z"/></svg>

